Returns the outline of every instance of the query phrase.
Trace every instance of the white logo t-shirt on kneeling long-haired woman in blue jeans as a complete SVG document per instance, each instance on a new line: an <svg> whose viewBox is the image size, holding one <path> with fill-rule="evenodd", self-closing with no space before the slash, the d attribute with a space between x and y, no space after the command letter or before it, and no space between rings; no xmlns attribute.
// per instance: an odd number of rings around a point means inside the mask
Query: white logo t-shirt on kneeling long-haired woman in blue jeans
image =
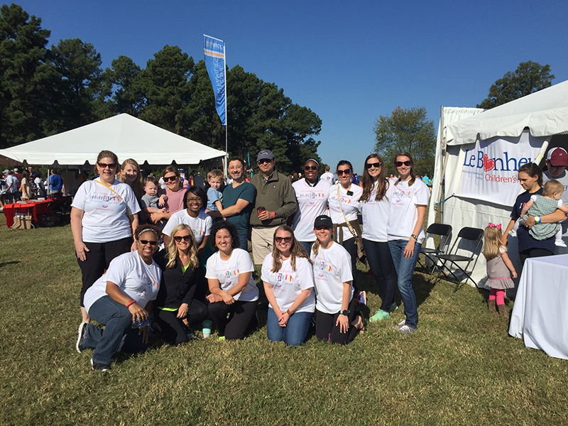
<svg viewBox="0 0 568 426"><path fill-rule="evenodd" d="M262 263L261 280L272 285L272 291L280 310L288 310L302 290L314 287L314 271L307 258L296 258L296 270L293 271L290 258L282 261L278 272L272 272L272 253L268 253ZM270 303L269 307L273 307ZM315 293L312 293L295 312L314 312Z"/></svg>

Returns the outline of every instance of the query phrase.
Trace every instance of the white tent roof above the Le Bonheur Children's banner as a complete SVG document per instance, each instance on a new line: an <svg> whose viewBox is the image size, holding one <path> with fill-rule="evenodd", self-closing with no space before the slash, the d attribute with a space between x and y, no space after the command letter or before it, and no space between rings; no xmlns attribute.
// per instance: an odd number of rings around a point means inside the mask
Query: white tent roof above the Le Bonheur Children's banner
<svg viewBox="0 0 568 426"><path fill-rule="evenodd" d="M454 135L448 145L475 143L496 136L520 136L525 127L532 136L568 133L568 81L515 99L469 119L449 124Z"/></svg>

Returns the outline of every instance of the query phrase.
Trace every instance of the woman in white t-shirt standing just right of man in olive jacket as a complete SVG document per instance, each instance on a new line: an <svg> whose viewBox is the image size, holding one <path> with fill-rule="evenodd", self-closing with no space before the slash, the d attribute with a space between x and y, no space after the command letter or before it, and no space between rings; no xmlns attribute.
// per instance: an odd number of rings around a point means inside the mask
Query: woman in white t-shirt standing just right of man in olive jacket
<svg viewBox="0 0 568 426"><path fill-rule="evenodd" d="M292 184L297 202L292 229L306 253L310 253L315 241L313 231L315 218L327 212L327 199L331 187L327 180L318 177L319 171L320 164L316 160L307 160L304 165L304 178Z"/></svg>

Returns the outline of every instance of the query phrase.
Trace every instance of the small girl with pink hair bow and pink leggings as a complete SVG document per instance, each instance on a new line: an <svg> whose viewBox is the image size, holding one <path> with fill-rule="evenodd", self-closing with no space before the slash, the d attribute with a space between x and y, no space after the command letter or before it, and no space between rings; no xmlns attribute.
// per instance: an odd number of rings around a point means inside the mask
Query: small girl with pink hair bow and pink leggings
<svg viewBox="0 0 568 426"><path fill-rule="evenodd" d="M517 271L507 255L507 247L501 243L501 224L489 224L484 230L484 256L487 261L487 283L491 288L488 307L490 312L499 312L509 317L505 307L505 290L513 288L515 283L510 276L517 278Z"/></svg>

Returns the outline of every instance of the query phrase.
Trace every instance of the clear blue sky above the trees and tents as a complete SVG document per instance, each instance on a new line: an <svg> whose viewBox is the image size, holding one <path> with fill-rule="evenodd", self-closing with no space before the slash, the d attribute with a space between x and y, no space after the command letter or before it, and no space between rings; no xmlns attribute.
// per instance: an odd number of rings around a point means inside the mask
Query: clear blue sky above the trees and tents
<svg viewBox="0 0 568 426"><path fill-rule="evenodd" d="M322 119L324 162L362 172L378 116L475 107L519 62L568 80L568 1L19 1L63 38L92 43L103 67L141 67L164 45L196 62L202 34L225 40L227 65L284 89Z"/></svg>

